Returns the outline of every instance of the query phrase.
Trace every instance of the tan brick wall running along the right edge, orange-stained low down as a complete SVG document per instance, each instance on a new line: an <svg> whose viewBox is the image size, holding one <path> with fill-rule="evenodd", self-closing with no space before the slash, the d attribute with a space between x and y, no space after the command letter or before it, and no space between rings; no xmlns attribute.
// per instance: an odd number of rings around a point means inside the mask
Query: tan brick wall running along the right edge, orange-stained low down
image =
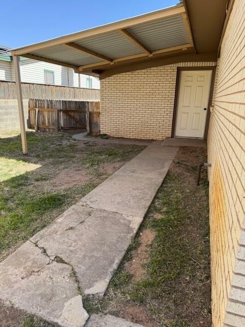
<svg viewBox="0 0 245 327"><path fill-rule="evenodd" d="M245 2L235 0L208 134L213 326L245 326Z"/></svg>

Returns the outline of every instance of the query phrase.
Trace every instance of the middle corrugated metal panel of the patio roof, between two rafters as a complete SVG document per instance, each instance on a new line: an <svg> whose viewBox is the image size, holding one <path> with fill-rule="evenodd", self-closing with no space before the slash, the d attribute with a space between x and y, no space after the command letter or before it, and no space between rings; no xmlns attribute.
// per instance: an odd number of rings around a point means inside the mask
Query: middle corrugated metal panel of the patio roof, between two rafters
<svg viewBox="0 0 245 327"><path fill-rule="evenodd" d="M111 59L142 53L137 45L119 34L119 32L108 32L92 36L76 41L76 43Z"/></svg>

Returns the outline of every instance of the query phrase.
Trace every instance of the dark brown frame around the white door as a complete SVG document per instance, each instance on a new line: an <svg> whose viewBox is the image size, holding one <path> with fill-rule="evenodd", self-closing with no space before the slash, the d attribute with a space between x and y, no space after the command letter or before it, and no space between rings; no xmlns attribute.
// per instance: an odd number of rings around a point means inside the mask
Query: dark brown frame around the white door
<svg viewBox="0 0 245 327"><path fill-rule="evenodd" d="M207 139L207 137L208 137L208 126L209 126L209 120L210 120L210 106L212 104L212 98L213 98L213 87L214 87L214 81L215 81L216 66L178 67L177 68L176 88L175 88L175 104L174 104L172 131L171 131L171 137L172 138L175 137L177 111L178 111L177 107L178 107L178 101L179 101L179 90L180 90L180 80L181 80L181 72L182 71L212 71L210 91L209 91L209 99L208 99L207 116L206 116L206 123L205 123L205 131L204 131L204 138L203 138L203 139ZM188 137L181 137L181 138L188 138ZM191 137L191 138L193 138L193 137Z"/></svg>

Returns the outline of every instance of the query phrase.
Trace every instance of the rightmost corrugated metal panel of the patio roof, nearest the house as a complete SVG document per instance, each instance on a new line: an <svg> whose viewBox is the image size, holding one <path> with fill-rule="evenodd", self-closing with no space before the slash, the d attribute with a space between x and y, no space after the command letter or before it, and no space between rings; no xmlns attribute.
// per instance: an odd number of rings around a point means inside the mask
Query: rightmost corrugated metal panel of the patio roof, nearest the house
<svg viewBox="0 0 245 327"><path fill-rule="evenodd" d="M151 51L189 42L181 15L141 24L127 31Z"/></svg>

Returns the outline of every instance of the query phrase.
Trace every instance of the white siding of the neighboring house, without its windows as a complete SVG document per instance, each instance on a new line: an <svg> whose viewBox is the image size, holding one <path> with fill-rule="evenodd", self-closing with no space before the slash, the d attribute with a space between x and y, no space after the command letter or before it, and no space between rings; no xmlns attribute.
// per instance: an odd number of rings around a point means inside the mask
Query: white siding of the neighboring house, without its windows
<svg viewBox="0 0 245 327"><path fill-rule="evenodd" d="M44 83L44 69L53 71L55 75L55 85L79 87L79 74L74 73L74 69L67 68L52 63L36 61L32 59L21 60L20 75L23 83ZM86 75L80 74L80 87L86 87ZM92 88L100 89L100 80L96 77L92 79ZM0 60L0 80L13 81L13 62Z"/></svg>

